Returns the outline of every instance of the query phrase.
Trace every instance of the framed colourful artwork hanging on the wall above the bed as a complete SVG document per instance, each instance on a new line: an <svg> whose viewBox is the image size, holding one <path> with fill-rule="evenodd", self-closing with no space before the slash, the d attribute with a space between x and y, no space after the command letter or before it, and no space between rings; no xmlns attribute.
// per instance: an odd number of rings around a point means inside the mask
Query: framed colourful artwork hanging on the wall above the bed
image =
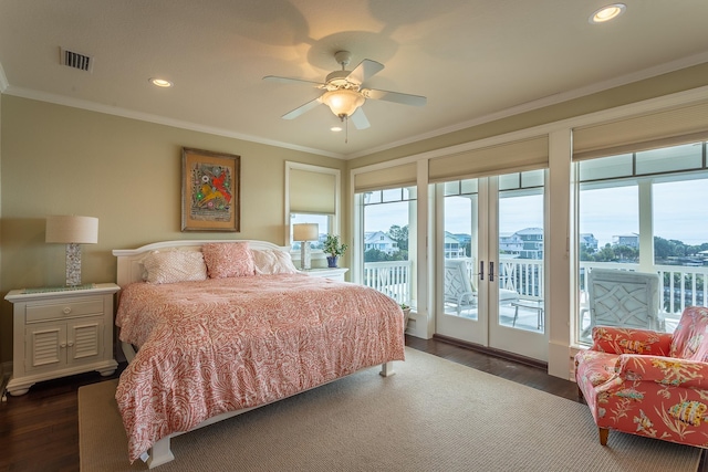
<svg viewBox="0 0 708 472"><path fill-rule="evenodd" d="M181 231L241 231L241 157L183 148Z"/></svg>

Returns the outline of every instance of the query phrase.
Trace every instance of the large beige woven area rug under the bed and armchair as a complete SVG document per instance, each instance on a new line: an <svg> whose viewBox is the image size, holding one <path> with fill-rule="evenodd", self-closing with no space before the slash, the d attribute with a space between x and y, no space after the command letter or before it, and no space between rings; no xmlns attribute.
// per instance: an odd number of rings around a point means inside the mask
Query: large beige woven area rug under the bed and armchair
<svg viewBox="0 0 708 472"><path fill-rule="evenodd" d="M171 441L174 471L696 471L700 450L611 431L586 406L412 348L379 367ZM79 390L81 470L127 462L116 381Z"/></svg>

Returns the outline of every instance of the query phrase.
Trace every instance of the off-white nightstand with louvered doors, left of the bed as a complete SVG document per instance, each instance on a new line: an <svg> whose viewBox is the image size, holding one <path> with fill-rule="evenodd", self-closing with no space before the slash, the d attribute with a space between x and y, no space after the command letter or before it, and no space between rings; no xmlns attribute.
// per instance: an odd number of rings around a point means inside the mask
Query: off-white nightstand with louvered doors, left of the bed
<svg viewBox="0 0 708 472"><path fill-rule="evenodd" d="M10 395L27 394L38 381L97 370L112 375L113 283L79 290L13 290L12 378Z"/></svg>

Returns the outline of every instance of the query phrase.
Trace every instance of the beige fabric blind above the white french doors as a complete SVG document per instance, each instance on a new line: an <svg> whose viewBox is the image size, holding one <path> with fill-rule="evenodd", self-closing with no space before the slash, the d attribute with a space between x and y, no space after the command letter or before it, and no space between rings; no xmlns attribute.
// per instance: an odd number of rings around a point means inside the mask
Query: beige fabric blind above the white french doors
<svg viewBox="0 0 708 472"><path fill-rule="evenodd" d="M543 169L549 165L549 138L539 136L433 158L430 182Z"/></svg>

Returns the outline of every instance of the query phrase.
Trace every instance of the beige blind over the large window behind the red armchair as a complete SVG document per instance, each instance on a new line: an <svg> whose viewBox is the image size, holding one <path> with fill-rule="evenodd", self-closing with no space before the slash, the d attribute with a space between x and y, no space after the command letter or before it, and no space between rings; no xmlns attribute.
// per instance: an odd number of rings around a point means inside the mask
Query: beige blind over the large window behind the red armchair
<svg viewBox="0 0 708 472"><path fill-rule="evenodd" d="M573 160L708 139L708 102L573 129Z"/></svg>

